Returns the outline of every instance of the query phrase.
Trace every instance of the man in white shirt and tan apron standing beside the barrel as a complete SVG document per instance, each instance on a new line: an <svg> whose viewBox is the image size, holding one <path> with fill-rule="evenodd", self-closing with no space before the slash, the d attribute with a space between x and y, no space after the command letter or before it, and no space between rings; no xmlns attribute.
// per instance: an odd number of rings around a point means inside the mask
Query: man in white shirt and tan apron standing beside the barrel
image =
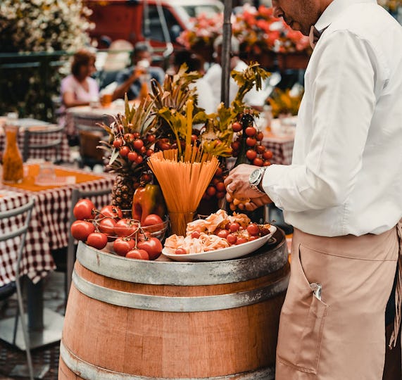
<svg viewBox="0 0 402 380"><path fill-rule="evenodd" d="M240 165L225 184L294 226L275 379L379 380L397 263L390 347L401 316L402 27L375 0L272 6L314 46L292 164Z"/></svg>

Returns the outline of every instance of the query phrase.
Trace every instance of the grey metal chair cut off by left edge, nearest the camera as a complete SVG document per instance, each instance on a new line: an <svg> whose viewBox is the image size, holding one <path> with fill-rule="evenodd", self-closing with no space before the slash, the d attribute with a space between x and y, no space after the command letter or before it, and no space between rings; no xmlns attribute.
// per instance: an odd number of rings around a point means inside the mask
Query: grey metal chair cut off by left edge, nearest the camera
<svg viewBox="0 0 402 380"><path fill-rule="evenodd" d="M6 241L9 239L13 239L17 236L20 236L20 248L18 249L17 261L15 262L15 290L17 292L17 300L18 300L18 312L15 316L15 324L14 324L14 332L13 332L13 343L15 343L15 338L17 336L17 327L18 327L18 316L21 319L21 325L23 327L23 337L25 341L25 352L27 354L27 365L29 370L30 379L34 379L34 369L32 365L32 357L30 352L30 335L27 330L27 324L25 323L24 318L24 306L23 306L23 293L21 291L20 285L20 263L23 257L23 249L25 246L25 239L27 236L27 230L30 224L32 208L34 206L34 199L32 198L28 203L18 208L13 208L12 210L1 211L0 212L0 220L9 219L11 217L18 217L25 215L25 222L23 227L18 227L13 229L11 232L1 233L0 241ZM4 292L2 292L3 297L9 297L13 294L13 286L8 285L2 287ZM1 289L1 288L0 288Z"/></svg>

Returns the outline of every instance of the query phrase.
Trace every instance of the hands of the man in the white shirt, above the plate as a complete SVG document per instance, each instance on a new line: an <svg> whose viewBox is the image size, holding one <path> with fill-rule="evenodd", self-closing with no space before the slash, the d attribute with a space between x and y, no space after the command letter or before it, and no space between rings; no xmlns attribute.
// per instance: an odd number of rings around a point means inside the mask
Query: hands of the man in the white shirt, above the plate
<svg viewBox="0 0 402 380"><path fill-rule="evenodd" d="M261 194L260 191L250 187L249 177L253 170L256 170L256 166L241 164L235 167L225 179L226 200L229 203L233 203L236 199L244 200L245 202L239 203L238 206L241 206L240 209L245 208L249 211L272 203L267 194Z"/></svg>

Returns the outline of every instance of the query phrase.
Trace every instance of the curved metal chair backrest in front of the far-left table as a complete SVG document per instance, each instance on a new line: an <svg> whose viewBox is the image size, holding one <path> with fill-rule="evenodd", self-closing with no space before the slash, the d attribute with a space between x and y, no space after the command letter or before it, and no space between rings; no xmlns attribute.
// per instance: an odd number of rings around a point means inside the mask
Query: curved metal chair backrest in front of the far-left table
<svg viewBox="0 0 402 380"><path fill-rule="evenodd" d="M49 157L53 154L56 161L59 158L60 146L63 141L63 125L46 125L41 128L30 127L24 132L23 160L30 157L31 150L46 149Z"/></svg>

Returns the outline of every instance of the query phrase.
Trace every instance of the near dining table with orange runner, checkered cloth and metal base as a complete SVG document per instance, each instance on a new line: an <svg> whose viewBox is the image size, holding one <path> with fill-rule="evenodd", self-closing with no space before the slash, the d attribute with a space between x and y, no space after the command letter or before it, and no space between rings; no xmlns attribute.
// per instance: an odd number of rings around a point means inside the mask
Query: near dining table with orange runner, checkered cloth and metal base
<svg viewBox="0 0 402 380"><path fill-rule="evenodd" d="M20 184L0 184L0 210L10 210L34 198L30 227L23 250L20 274L27 277L27 318L31 348L59 341L63 316L45 309L43 304L44 279L56 269L52 251L68 246L70 234L70 209L73 189L98 191L111 189L115 176L108 173L92 173L75 167L54 165L54 175L44 179L39 175L38 164L24 165L24 179ZM101 207L110 203L109 196L94 198ZM21 227L23 220L2 220L1 231ZM0 286L15 280L15 260L19 239L1 242ZM0 322L0 338L13 340L14 318ZM17 334L15 346L24 349L22 334Z"/></svg>

